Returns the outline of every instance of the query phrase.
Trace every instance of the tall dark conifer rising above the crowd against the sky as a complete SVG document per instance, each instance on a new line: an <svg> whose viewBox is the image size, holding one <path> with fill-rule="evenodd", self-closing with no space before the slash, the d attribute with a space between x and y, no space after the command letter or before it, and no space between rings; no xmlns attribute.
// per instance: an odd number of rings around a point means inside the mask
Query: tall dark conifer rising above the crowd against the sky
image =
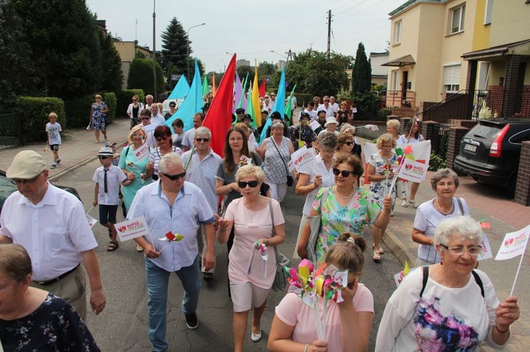
<svg viewBox="0 0 530 352"><path fill-rule="evenodd" d="M170 20L165 32L162 33L162 59L160 66L162 66L165 73L170 68L179 74L187 75L187 45L189 42L188 36L182 24L176 17ZM192 54L192 47L189 47L189 54ZM190 73L193 65L190 65Z"/></svg>

